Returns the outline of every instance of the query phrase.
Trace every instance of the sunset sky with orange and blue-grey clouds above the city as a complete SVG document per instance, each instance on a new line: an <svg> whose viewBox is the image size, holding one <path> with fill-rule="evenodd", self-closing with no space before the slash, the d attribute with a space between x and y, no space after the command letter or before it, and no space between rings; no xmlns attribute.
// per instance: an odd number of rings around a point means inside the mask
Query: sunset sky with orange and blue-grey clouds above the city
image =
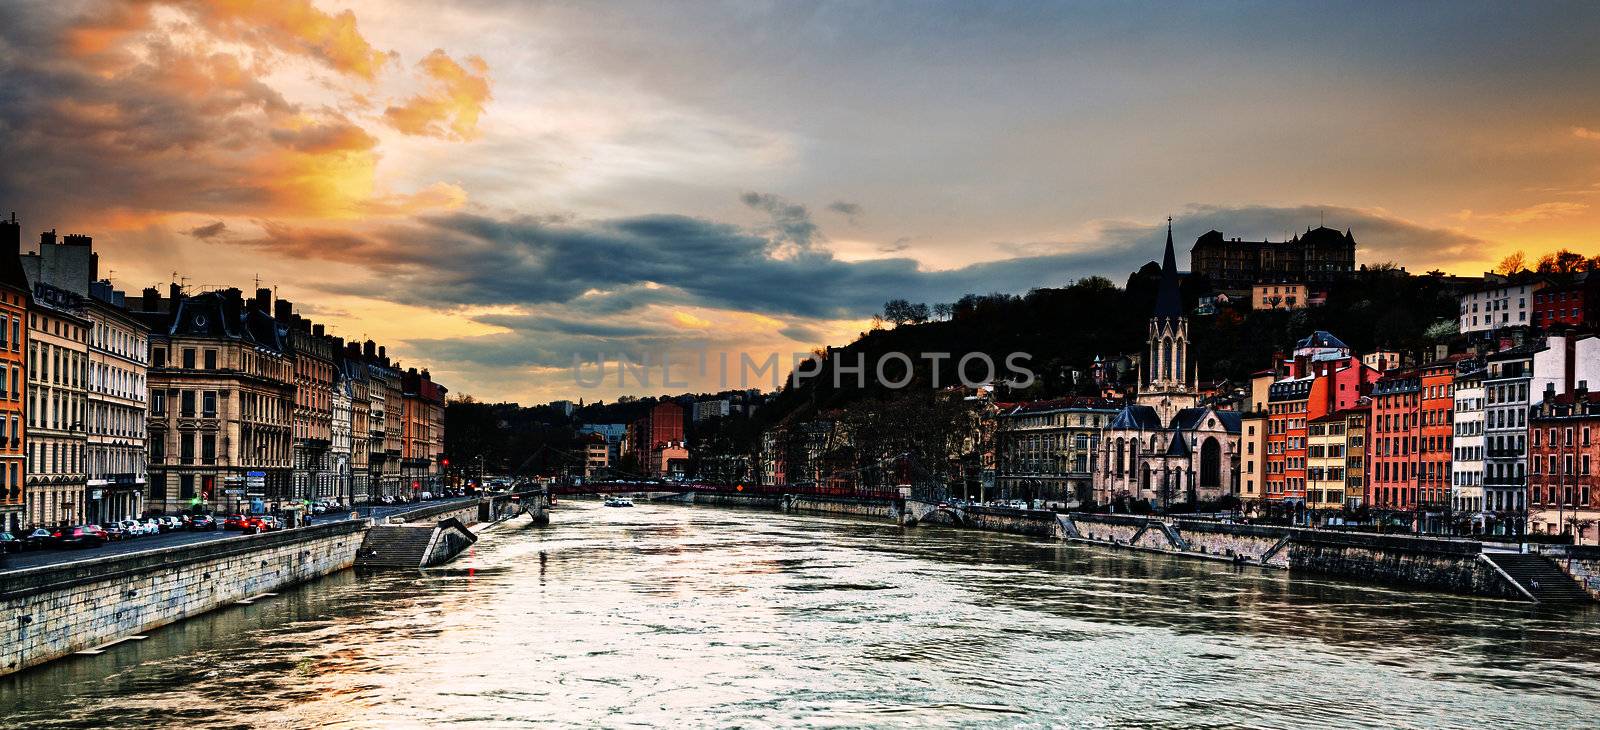
<svg viewBox="0 0 1600 730"><path fill-rule="evenodd" d="M1166 216L1411 271L1600 253L1594 3L6 6L0 213L128 291L259 280L480 400L739 386L614 362L1122 282Z"/></svg>

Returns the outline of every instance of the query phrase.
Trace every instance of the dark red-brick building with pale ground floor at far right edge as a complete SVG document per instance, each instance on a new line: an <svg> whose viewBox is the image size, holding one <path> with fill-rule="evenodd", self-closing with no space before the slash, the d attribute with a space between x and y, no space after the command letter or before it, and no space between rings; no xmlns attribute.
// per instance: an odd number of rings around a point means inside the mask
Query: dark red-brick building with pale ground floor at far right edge
<svg viewBox="0 0 1600 730"><path fill-rule="evenodd" d="M1549 384L1528 427L1528 531L1600 544L1600 392Z"/></svg>

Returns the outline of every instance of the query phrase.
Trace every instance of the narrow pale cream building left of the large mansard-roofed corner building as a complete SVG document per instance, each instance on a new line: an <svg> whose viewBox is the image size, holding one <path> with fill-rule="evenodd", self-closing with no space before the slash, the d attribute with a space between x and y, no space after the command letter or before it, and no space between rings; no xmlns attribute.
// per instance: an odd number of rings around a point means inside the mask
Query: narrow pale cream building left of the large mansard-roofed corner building
<svg viewBox="0 0 1600 730"><path fill-rule="evenodd" d="M106 280L90 285L88 317L88 499L102 522L133 519L147 487L150 330Z"/></svg>

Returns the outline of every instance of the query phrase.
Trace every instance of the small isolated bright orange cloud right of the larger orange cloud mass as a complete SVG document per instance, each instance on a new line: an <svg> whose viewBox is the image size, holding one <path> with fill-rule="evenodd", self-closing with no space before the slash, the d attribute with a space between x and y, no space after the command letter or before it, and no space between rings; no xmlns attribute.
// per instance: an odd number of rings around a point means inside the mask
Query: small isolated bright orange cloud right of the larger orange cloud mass
<svg viewBox="0 0 1600 730"><path fill-rule="evenodd" d="M478 115L490 101L490 66L478 56L467 56L464 67L435 48L418 69L432 80L432 88L384 110L389 126L406 134L442 139L475 138Z"/></svg>

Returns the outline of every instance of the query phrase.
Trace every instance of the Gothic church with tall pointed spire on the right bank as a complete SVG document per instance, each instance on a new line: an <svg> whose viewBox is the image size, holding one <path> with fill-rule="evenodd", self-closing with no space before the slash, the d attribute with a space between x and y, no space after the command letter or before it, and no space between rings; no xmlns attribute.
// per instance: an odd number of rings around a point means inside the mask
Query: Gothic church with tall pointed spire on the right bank
<svg viewBox="0 0 1600 730"><path fill-rule="evenodd" d="M1130 499L1168 509L1216 503L1238 493L1238 413L1200 405L1197 386L1168 219L1166 255L1149 344L1139 363L1138 394L1101 435L1094 501Z"/></svg>

